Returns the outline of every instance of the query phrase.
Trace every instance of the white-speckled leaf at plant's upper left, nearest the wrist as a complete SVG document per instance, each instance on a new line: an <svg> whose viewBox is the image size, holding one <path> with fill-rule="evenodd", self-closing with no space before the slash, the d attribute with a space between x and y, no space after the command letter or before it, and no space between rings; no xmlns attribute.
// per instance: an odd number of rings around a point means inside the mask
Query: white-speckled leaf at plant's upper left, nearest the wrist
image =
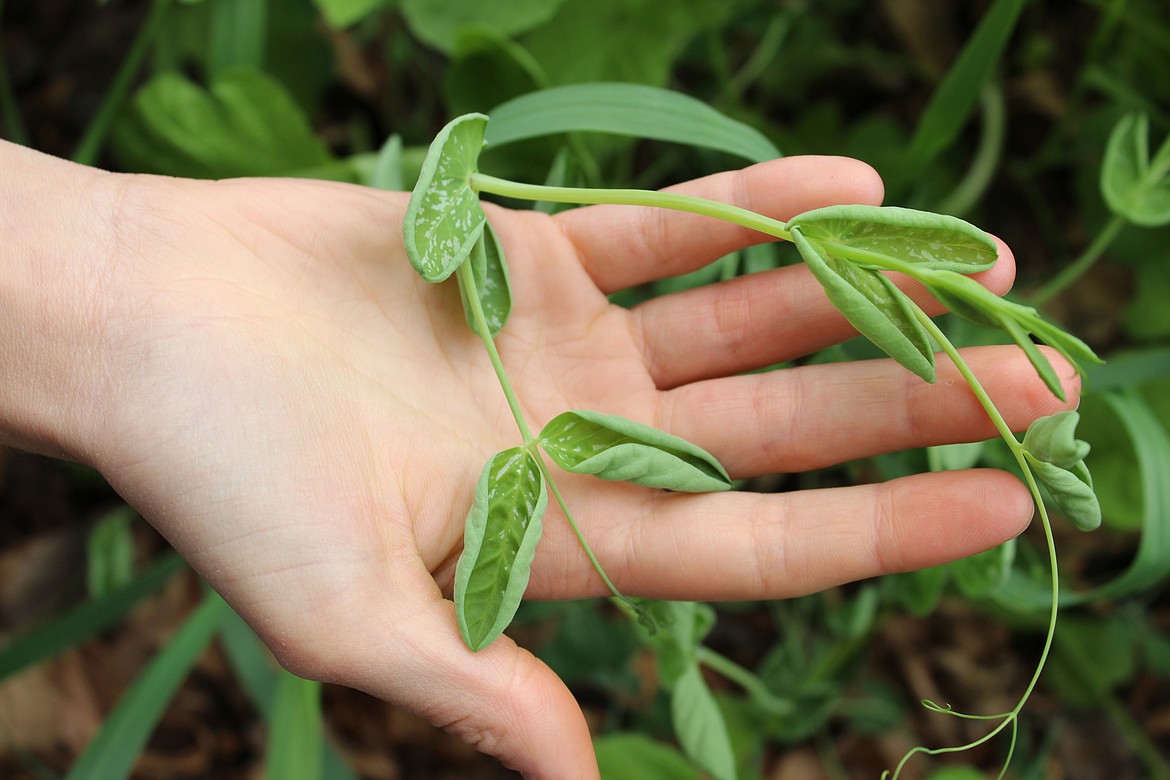
<svg viewBox="0 0 1170 780"><path fill-rule="evenodd" d="M488 118L467 113L439 131L402 223L406 254L427 282L442 282L472 254L487 216L468 178L483 149Z"/></svg>

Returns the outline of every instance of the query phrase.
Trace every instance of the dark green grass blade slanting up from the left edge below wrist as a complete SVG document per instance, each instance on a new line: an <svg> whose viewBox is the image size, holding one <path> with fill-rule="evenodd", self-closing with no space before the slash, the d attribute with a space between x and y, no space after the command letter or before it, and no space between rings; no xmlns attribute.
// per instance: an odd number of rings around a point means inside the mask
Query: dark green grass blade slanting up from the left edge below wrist
<svg viewBox="0 0 1170 780"><path fill-rule="evenodd" d="M0 679L42 663L109 628L185 566L177 553L163 554L124 587L102 599L81 603L51 622L12 640L0 648Z"/></svg>

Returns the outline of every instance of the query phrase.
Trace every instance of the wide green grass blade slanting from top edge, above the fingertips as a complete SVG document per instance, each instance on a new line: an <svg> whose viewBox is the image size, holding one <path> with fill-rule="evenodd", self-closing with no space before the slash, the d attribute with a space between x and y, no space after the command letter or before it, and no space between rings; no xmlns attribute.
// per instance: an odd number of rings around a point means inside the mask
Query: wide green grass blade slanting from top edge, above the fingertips
<svg viewBox="0 0 1170 780"><path fill-rule="evenodd" d="M1027 0L996 0L984 14L923 111L899 184L914 181L958 136L994 74L1026 4Z"/></svg>

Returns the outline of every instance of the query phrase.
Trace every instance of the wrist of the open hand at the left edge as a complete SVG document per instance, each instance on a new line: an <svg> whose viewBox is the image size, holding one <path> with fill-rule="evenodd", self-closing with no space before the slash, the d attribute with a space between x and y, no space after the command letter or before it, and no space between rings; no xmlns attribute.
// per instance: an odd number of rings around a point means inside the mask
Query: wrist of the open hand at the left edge
<svg viewBox="0 0 1170 780"><path fill-rule="evenodd" d="M87 460L117 177L0 141L0 443Z"/></svg>

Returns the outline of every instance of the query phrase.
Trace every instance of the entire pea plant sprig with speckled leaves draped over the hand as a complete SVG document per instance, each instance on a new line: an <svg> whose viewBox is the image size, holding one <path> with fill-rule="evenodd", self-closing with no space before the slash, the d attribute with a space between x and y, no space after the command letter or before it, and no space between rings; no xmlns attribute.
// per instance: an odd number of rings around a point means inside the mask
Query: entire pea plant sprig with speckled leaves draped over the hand
<svg viewBox="0 0 1170 780"><path fill-rule="evenodd" d="M759 690L759 681L751 672L707 648L695 649L709 628L709 612L695 606L655 605L631 599L614 587L573 519L543 456L572 474L675 491L729 490L732 483L728 472L700 447L611 414L566 410L548 421L538 433L532 433L495 346L495 336L505 327L511 309L511 289L503 247L487 220L480 198L493 194L576 205L649 206L725 220L792 242L830 302L853 327L928 382L935 380L935 351L936 347L941 350L958 368L1019 467L1038 508L1052 572L1048 633L1035 671L1017 705L1007 712L965 715L923 702L936 712L994 725L966 745L916 747L903 757L893 774L886 773L886 776L897 778L915 754L968 750L1007 730L1011 746L1000 772L1003 776L1014 750L1018 716L1039 679L1057 624L1059 573L1045 499L1082 530L1092 530L1101 522L1092 477L1085 464L1088 446L1075 436L1075 412L1037 420L1023 441L1018 440L943 330L885 272L917 279L955 315L1000 329L1024 350L1057 396L1064 398L1060 379L1033 339L1055 348L1078 371L1082 364L1100 363L1099 358L1080 339L1045 320L1034 309L1005 301L971 278L971 274L991 268L998 251L991 236L963 220L897 207L832 206L784 222L729 203L682 194L510 181L479 171L487 124L486 116L472 113L452 120L440 131L422 164L404 223L406 251L419 275L432 283L452 276L456 278L468 325L483 341L518 429L519 443L491 456L483 467L467 516L454 593L459 628L467 646L472 650L487 647L515 615L528 585L542 517L551 493L619 605L649 633L659 631L665 637L655 640L655 646L662 653L673 654L677 667L673 675L674 705L680 697L691 702L710 699L697 674L700 662L768 703L766 691ZM684 733L684 722L693 711L693 703L673 710L684 750L716 778L735 776L728 745Z"/></svg>

